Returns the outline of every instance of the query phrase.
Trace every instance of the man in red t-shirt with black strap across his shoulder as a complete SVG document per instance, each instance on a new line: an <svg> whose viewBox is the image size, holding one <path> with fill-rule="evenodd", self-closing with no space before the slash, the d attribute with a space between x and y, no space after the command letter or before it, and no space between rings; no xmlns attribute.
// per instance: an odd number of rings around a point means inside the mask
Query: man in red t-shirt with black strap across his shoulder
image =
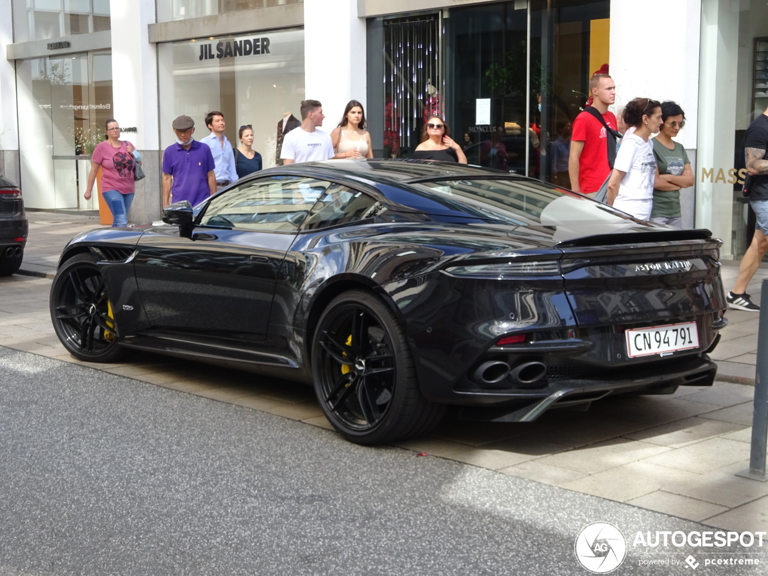
<svg viewBox="0 0 768 576"><path fill-rule="evenodd" d="M616 117L608 106L616 100L616 86L608 74L594 74L589 81L592 106L602 114L605 124L616 130ZM608 147L605 127L589 112L581 112L574 120L571 135L571 154L568 174L571 190L591 194L600 190L611 167L608 166Z"/></svg>

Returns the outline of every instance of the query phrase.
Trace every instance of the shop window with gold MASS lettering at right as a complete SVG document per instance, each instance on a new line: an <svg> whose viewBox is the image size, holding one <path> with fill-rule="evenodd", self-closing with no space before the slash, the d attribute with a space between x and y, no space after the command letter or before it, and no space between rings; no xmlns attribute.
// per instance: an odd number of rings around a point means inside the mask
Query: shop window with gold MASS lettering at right
<svg viewBox="0 0 768 576"><path fill-rule="evenodd" d="M739 260L754 214L742 194L743 138L768 108L768 12L764 2L703 0L696 161L696 226L723 240L720 257Z"/></svg>

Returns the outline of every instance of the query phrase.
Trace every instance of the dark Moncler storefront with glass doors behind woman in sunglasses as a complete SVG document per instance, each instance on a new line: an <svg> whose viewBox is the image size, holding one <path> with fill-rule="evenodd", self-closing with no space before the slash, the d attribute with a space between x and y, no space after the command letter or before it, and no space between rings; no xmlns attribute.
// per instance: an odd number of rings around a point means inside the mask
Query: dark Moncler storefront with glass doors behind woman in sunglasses
<svg viewBox="0 0 768 576"><path fill-rule="evenodd" d="M425 114L442 113L470 164L570 187L571 125L609 71L609 15L608 0L513 0L370 21L374 154L409 157Z"/></svg>

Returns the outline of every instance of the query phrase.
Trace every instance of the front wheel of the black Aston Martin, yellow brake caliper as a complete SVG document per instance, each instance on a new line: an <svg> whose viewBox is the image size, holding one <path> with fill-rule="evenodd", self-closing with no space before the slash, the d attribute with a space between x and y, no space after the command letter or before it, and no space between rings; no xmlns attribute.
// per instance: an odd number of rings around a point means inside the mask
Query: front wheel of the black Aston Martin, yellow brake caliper
<svg viewBox="0 0 768 576"><path fill-rule="evenodd" d="M90 254L78 254L51 284L51 321L68 353L85 362L114 362L130 353L118 343L107 286Z"/></svg>

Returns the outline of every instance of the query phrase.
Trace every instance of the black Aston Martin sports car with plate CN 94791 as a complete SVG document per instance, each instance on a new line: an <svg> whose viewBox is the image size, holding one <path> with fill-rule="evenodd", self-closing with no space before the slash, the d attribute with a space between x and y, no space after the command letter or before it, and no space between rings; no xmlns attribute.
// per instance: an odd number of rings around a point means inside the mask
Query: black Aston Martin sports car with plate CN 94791
<svg viewBox="0 0 768 576"><path fill-rule="evenodd" d="M313 383L336 429L391 442L707 386L726 308L709 230L429 161L263 170L164 222L61 254L51 316L79 359L145 349Z"/></svg>

